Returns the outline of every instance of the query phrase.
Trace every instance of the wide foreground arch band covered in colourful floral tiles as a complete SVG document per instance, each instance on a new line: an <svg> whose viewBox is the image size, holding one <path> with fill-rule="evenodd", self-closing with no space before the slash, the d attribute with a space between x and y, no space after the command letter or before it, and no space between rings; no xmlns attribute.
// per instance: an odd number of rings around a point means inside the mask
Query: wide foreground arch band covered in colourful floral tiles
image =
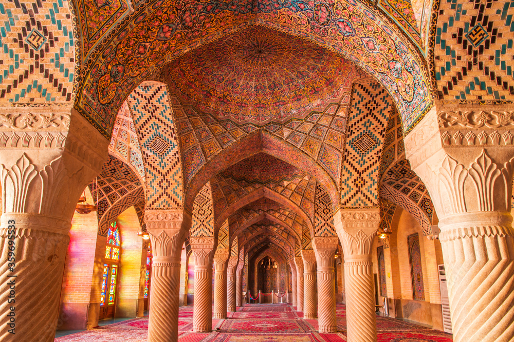
<svg viewBox="0 0 514 342"><path fill-rule="evenodd" d="M303 36L362 65L393 94L408 129L431 107L429 81L418 49L403 34L391 30L389 19L384 20L379 11L353 0L305 3L301 8L290 2L272 3L273 11L263 11L268 6L255 2L249 13L245 3L228 6L219 2L215 7L198 7L193 1L178 13L174 2L150 1L105 37L109 44L99 45L90 55L90 68L79 91L79 108L108 135L113 120L111 109L121 107L127 91L142 79L171 58L249 23ZM207 18L210 30L203 29ZM357 28L355 23L362 24ZM155 58L162 50L168 54ZM383 60L393 64L384 66Z"/></svg>

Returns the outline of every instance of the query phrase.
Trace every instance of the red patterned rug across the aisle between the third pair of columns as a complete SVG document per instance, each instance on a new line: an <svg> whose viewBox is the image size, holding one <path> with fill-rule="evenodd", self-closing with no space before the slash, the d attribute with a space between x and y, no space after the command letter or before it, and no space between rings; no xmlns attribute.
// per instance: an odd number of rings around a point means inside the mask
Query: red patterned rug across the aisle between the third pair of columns
<svg viewBox="0 0 514 342"><path fill-rule="evenodd" d="M229 319L222 325L219 332L224 333L277 333L298 334L310 332L309 327L300 319Z"/></svg>

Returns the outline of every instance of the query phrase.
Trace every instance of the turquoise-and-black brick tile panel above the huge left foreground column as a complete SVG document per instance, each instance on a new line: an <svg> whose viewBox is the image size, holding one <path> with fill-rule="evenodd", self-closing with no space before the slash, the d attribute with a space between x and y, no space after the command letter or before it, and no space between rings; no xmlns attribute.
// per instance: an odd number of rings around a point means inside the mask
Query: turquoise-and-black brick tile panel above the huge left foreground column
<svg viewBox="0 0 514 342"><path fill-rule="evenodd" d="M2 102L74 100L76 41L69 5L67 0L0 3Z"/></svg>

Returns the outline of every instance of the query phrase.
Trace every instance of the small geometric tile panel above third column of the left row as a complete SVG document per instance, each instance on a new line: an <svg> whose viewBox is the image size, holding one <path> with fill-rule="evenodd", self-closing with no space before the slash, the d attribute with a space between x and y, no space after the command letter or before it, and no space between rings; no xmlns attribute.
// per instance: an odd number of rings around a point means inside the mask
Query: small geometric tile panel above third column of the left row
<svg viewBox="0 0 514 342"><path fill-rule="evenodd" d="M214 214L212 212L210 183L207 183L203 188L201 188L194 200L189 236L214 236Z"/></svg>

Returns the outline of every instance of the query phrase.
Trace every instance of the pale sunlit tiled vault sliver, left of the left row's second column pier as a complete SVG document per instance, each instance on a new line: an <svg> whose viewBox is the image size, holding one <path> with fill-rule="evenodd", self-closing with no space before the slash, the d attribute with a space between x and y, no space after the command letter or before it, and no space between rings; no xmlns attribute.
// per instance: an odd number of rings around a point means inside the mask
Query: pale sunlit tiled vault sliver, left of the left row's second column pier
<svg viewBox="0 0 514 342"><path fill-rule="evenodd" d="M125 101L121 106L114 122L113 135L109 151L112 151L119 159L131 166L140 179L144 179L144 164L141 155L141 147L132 120L132 114Z"/></svg>

